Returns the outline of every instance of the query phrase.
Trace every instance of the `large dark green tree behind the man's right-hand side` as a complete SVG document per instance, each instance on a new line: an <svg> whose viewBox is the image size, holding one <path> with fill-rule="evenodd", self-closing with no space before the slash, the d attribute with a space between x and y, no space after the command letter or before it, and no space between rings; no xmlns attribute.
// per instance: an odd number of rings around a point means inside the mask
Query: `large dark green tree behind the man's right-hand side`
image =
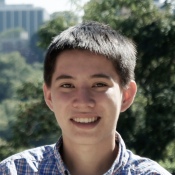
<svg viewBox="0 0 175 175"><path fill-rule="evenodd" d="M84 10L83 20L109 24L137 44L139 92L118 130L137 153L162 159L175 137L174 16L152 0L91 0Z"/></svg>

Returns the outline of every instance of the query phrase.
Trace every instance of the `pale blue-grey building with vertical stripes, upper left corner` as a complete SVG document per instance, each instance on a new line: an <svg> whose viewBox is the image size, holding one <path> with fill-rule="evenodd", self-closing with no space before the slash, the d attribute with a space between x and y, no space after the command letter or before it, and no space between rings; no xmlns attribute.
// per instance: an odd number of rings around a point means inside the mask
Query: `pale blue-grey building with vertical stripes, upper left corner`
<svg viewBox="0 0 175 175"><path fill-rule="evenodd" d="M32 36L49 15L41 7L27 5L6 5L0 0L0 32L8 29L22 28Z"/></svg>

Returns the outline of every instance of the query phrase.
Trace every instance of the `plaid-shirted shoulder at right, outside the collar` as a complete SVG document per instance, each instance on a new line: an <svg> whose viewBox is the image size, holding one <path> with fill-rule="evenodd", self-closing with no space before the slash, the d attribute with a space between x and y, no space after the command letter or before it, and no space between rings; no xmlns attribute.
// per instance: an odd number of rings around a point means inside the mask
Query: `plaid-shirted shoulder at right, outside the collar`
<svg viewBox="0 0 175 175"><path fill-rule="evenodd" d="M171 175L157 162L135 155L129 150L127 150L127 152L129 154L129 159L126 167L129 168L131 172L144 175Z"/></svg>

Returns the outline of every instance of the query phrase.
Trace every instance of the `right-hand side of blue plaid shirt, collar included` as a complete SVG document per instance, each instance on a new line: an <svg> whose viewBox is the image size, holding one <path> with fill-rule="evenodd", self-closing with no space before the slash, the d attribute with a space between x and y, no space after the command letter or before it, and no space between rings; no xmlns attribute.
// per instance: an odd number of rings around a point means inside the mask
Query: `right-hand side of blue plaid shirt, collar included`
<svg viewBox="0 0 175 175"><path fill-rule="evenodd" d="M116 133L116 141L119 144L119 155L115 163L116 174L133 175L171 175L157 162L135 155L126 149L125 143L119 133Z"/></svg>

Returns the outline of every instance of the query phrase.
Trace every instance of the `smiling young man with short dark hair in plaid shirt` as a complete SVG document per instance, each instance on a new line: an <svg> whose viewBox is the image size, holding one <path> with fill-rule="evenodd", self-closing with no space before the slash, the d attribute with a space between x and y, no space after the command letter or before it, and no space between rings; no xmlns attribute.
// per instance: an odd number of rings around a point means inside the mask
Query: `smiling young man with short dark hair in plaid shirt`
<svg viewBox="0 0 175 175"><path fill-rule="evenodd" d="M135 46L109 26L87 22L56 36L44 62L44 97L62 136L54 145L16 154L0 164L7 175L169 175L126 150L116 132L132 104Z"/></svg>

